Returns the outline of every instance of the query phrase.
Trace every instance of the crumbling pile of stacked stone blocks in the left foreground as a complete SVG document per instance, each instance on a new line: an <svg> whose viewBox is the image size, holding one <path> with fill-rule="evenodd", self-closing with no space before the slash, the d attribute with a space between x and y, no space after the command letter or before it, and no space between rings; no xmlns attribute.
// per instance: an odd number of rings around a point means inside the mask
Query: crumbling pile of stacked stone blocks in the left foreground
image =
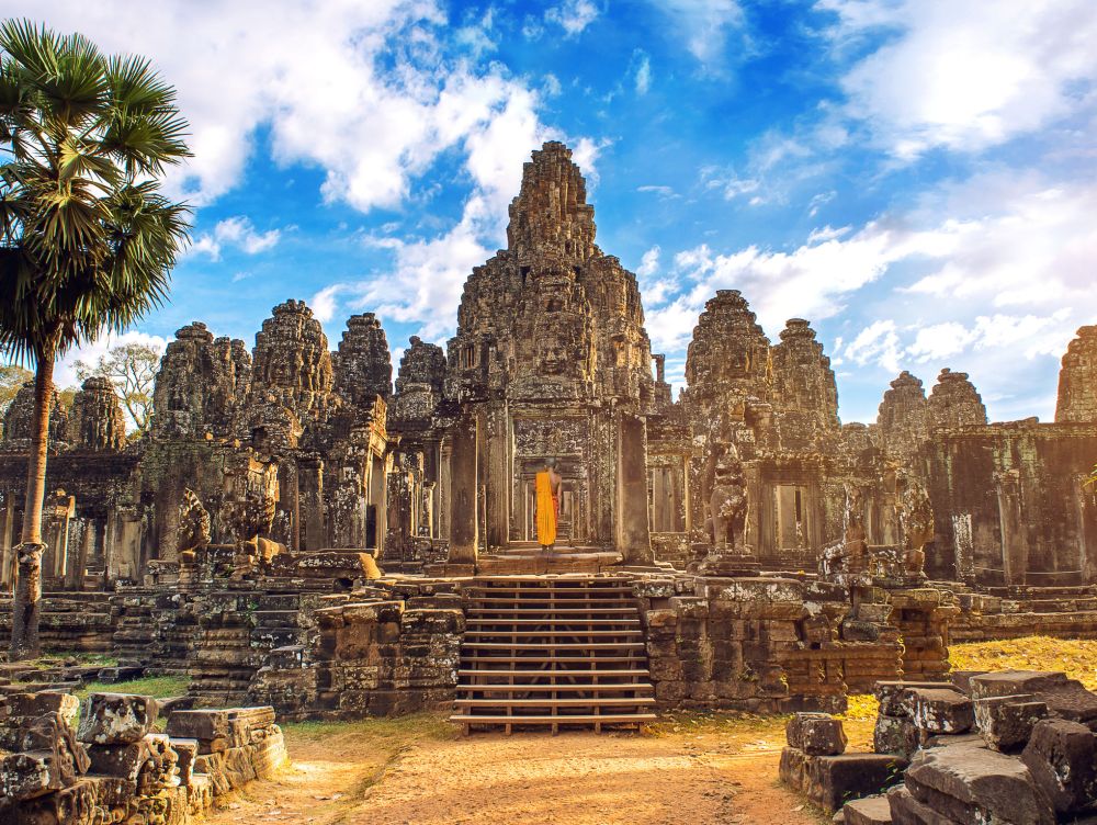
<svg viewBox="0 0 1097 825"><path fill-rule="evenodd" d="M171 711L150 697L13 693L0 702L0 822L183 825L286 762L272 708Z"/></svg>

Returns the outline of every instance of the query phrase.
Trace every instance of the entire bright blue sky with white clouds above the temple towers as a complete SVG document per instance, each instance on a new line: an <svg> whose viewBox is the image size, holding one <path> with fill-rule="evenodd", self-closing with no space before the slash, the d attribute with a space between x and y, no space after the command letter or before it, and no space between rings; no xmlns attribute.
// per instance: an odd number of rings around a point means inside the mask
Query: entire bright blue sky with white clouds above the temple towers
<svg viewBox="0 0 1097 825"><path fill-rule="evenodd" d="M588 176L598 242L640 276L671 380L704 301L735 287L773 340L812 321L844 420L873 420L900 370L928 391L943 366L971 374L992 419L1049 420L1059 359L1097 323L1092 0L5 14L145 54L180 91L195 157L170 187L196 207L194 242L129 338L202 319L251 346L297 297L332 349L365 310L397 359L410 335L444 343L547 138Z"/></svg>

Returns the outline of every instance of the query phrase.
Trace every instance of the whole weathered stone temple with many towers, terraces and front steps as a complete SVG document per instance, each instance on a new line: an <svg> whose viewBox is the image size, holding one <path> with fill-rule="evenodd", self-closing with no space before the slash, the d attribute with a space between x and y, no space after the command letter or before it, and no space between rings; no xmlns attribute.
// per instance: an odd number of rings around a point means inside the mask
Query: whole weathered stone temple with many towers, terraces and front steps
<svg viewBox="0 0 1097 825"><path fill-rule="evenodd" d="M332 342L289 300L252 348L180 329L140 440L104 380L55 405L43 645L186 674L196 708L452 707L470 730L555 731L834 712L877 683L943 690L950 642L1097 636L1097 326L1063 355L1054 422L988 422L945 370L930 386L903 372L875 423L842 423L810 321L770 340L748 302L709 300L676 399L636 278L596 245L578 167L547 143L456 335L411 338L395 375L373 314ZM7 588L32 404L27 385L0 441ZM952 733L917 727L915 705L952 699L898 690L882 719L913 744L881 753L906 759ZM805 736L790 730L782 771L826 784L805 765L844 739Z"/></svg>

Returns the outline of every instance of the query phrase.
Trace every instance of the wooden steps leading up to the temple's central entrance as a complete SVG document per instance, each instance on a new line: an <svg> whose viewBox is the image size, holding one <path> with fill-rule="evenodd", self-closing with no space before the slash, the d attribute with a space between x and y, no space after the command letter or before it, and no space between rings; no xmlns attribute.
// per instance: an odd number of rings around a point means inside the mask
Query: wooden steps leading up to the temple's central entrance
<svg viewBox="0 0 1097 825"><path fill-rule="evenodd" d="M499 728L640 726L656 719L627 578L499 576L468 588L451 722Z"/></svg>

